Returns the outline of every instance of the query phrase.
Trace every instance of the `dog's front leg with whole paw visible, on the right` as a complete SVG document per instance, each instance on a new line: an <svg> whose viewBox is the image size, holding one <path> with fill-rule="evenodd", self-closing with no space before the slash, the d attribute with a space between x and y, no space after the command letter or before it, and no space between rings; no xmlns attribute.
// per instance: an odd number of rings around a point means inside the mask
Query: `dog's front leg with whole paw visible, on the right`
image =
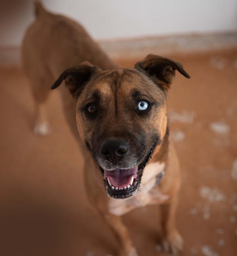
<svg viewBox="0 0 237 256"><path fill-rule="evenodd" d="M162 246L164 251L173 255L177 255L183 249L183 239L175 225L177 205L177 195L169 203L161 205Z"/></svg>

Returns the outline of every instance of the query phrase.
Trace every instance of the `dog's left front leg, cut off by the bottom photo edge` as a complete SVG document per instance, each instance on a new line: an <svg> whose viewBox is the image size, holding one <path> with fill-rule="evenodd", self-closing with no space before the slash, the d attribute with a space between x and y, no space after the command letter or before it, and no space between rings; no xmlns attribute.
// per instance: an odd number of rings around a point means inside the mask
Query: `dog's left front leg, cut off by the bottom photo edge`
<svg viewBox="0 0 237 256"><path fill-rule="evenodd" d="M121 248L119 256L138 256L129 232L122 223L121 217L104 213L102 213L102 217L119 240L119 247Z"/></svg>

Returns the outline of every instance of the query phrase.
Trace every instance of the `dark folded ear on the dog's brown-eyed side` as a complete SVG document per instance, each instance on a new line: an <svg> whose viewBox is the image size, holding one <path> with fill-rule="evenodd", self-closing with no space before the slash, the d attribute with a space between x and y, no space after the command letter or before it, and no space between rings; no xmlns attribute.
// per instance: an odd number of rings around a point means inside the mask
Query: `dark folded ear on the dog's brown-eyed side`
<svg viewBox="0 0 237 256"><path fill-rule="evenodd" d="M52 85L51 89L59 87L62 81L65 79L66 87L68 87L73 97L77 97L82 91L85 83L89 81L91 76L98 70L96 66L93 66L88 61L83 62L79 66L66 69L59 78Z"/></svg>

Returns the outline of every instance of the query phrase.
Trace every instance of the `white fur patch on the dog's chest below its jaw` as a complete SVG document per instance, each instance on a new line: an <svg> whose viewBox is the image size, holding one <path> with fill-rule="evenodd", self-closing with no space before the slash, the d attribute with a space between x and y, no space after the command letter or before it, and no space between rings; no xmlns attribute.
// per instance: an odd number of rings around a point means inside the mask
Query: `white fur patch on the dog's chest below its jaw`
<svg viewBox="0 0 237 256"><path fill-rule="evenodd" d="M157 181L157 175L165 168L164 163L148 164L141 178L141 184L137 193L127 199L111 199L108 209L111 214L121 216L136 207L146 206L148 204L162 203L169 198L168 195L159 193L158 189L152 190Z"/></svg>

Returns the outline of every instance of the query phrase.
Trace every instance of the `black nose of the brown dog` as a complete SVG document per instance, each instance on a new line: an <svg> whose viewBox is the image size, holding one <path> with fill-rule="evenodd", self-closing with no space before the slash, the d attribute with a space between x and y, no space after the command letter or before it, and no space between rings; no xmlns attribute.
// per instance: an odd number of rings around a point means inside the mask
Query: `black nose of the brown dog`
<svg viewBox="0 0 237 256"><path fill-rule="evenodd" d="M121 158L127 155L128 151L128 143L121 139L104 140L100 145L101 155L113 163L119 162Z"/></svg>

